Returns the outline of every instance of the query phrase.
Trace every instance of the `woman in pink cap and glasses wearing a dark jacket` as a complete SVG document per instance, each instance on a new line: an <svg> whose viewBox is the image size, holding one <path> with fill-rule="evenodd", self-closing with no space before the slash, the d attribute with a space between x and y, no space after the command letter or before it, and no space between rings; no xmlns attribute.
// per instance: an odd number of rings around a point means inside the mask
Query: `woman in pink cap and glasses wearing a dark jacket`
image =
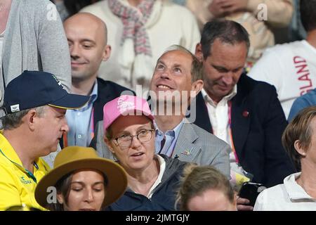
<svg viewBox="0 0 316 225"><path fill-rule="evenodd" d="M147 101L120 96L103 108L104 140L127 172L128 188L108 210L175 210L186 162L156 155L154 117Z"/></svg>

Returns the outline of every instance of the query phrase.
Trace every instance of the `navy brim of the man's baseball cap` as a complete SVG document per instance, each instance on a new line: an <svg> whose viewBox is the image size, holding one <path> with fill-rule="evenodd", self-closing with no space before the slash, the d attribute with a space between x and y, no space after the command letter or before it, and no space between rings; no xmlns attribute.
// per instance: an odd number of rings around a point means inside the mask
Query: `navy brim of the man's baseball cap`
<svg viewBox="0 0 316 225"><path fill-rule="evenodd" d="M58 99L57 101L49 103L48 105L51 105L56 108L64 108L67 110L73 110L73 109L84 107L84 105L86 105L86 103L88 103L89 100L90 100L90 96L81 96L78 94L67 94L66 96Z"/></svg>

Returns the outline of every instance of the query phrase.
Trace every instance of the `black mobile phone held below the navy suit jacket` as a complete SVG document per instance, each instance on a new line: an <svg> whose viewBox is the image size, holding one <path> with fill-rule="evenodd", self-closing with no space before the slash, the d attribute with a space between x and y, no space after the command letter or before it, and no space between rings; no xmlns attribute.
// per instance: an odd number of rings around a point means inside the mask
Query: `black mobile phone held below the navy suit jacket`
<svg viewBox="0 0 316 225"><path fill-rule="evenodd" d="M238 195L240 198L248 199L250 201L249 205L254 206L258 195L265 188L266 187L263 186L263 184L244 182L244 184L242 184L242 188L239 190Z"/></svg>

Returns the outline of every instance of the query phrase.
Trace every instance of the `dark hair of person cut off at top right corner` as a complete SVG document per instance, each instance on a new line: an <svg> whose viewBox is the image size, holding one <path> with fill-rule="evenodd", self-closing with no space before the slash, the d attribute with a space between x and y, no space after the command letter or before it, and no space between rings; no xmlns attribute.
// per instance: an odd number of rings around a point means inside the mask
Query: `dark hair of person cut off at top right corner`
<svg viewBox="0 0 316 225"><path fill-rule="evenodd" d="M300 13L303 27L307 32L316 29L316 0L301 0Z"/></svg>

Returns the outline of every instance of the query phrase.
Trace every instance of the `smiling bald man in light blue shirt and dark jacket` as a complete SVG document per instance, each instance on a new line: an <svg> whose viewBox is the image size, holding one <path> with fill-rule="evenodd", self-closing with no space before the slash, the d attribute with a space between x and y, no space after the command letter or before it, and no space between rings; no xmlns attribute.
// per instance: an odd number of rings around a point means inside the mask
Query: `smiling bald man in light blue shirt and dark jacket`
<svg viewBox="0 0 316 225"><path fill-rule="evenodd" d="M107 26L95 15L77 13L64 22L71 65L72 93L91 96L81 109L67 113L70 131L63 136L61 146L89 146L94 127L103 120L103 105L124 94L133 94L114 82L98 78L102 61L110 57L111 46L107 44Z"/></svg>

